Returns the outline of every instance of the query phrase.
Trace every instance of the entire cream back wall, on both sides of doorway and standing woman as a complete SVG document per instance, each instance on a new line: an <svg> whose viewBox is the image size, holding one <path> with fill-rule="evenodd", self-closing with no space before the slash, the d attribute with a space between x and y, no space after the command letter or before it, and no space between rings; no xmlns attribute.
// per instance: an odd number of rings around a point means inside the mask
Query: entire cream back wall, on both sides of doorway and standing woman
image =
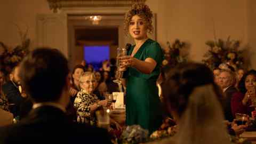
<svg viewBox="0 0 256 144"><path fill-rule="evenodd" d="M250 3L248 9L247 2ZM207 50L205 41L214 38L213 21L218 38L230 35L245 43L249 39L252 45L256 45L254 0L147 0L146 3L157 14L157 41L163 47L175 38L190 43L192 60L201 61ZM14 22L22 30L29 26L31 46L34 46L37 13L52 13L46 0L0 1L0 41L10 46L19 44L17 29L11 24Z"/></svg>

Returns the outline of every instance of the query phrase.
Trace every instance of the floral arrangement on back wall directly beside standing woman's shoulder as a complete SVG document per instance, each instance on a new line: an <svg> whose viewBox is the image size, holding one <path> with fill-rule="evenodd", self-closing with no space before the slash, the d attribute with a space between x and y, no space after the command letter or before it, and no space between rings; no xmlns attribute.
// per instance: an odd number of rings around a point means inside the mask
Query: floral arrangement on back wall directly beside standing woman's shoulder
<svg viewBox="0 0 256 144"><path fill-rule="evenodd" d="M181 42L179 39L175 39L174 43L170 44L167 42L168 49L164 51L165 60L163 60L162 65L165 67L174 67L178 63L186 62L188 54L181 54L180 50L183 49L187 44Z"/></svg>

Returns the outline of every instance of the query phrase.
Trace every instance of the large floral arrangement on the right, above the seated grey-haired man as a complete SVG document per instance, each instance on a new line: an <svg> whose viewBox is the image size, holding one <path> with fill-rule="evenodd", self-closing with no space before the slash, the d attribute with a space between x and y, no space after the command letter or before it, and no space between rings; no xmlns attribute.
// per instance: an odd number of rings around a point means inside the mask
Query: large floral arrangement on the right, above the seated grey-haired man
<svg viewBox="0 0 256 144"><path fill-rule="evenodd" d="M218 39L218 41L207 41L205 43L210 49L204 54L203 62L211 69L218 67L221 63L227 63L234 67L240 68L244 63L244 50L239 50L241 42L238 40L227 41Z"/></svg>

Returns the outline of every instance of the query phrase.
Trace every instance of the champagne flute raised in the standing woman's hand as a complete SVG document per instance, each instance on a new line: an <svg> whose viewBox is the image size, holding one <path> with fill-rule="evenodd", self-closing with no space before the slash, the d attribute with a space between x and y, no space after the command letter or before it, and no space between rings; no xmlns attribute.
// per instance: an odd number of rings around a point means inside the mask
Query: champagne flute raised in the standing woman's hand
<svg viewBox="0 0 256 144"><path fill-rule="evenodd" d="M127 53L127 50L124 47L117 47L117 57L125 56ZM123 72L119 71L120 61L117 59L116 62L116 79L113 81L115 83L121 83L121 78L123 77Z"/></svg>

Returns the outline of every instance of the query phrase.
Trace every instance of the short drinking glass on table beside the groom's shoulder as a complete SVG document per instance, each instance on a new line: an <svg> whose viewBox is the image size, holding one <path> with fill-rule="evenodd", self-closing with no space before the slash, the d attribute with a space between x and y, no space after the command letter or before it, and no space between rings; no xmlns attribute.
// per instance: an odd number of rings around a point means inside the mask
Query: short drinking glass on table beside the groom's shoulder
<svg viewBox="0 0 256 144"><path fill-rule="evenodd" d="M96 111L96 117L98 120L98 127L109 130L110 128L109 110L103 109L103 110Z"/></svg>

